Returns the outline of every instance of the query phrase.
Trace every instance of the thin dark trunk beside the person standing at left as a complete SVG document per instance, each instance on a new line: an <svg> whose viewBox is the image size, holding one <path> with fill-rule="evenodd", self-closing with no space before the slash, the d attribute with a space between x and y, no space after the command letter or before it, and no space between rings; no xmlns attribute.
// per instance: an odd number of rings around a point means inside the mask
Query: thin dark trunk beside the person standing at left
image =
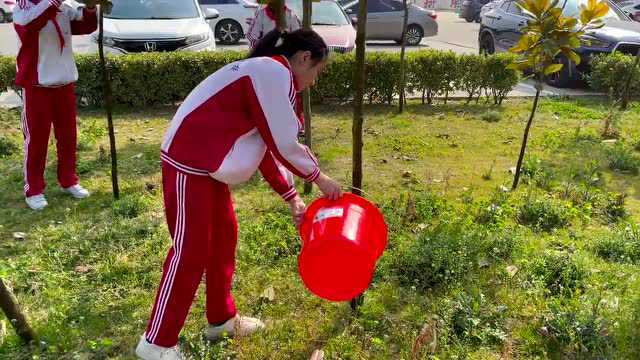
<svg viewBox="0 0 640 360"><path fill-rule="evenodd" d="M104 12L100 7L100 30L98 31L98 53L100 54L100 65L102 66L102 80L104 82L104 108L107 112L107 125L109 127L109 146L111 148L111 186L113 197L120 198L120 186L118 185L118 155L116 151L116 135L113 130L113 96L111 92L111 75L104 58Z"/></svg>

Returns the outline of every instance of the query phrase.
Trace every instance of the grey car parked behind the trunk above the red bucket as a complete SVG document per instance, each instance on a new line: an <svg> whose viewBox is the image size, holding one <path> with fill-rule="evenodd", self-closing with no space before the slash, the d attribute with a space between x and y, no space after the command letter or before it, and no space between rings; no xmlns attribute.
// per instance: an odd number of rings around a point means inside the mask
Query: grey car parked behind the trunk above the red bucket
<svg viewBox="0 0 640 360"><path fill-rule="evenodd" d="M344 10L352 19L357 21L358 0L344 5ZM407 22L407 45L418 45L425 36L438 34L437 14L433 10L426 10L419 6L409 5L409 19ZM367 1L367 40L402 41L402 24L404 6L398 0L369 0Z"/></svg>

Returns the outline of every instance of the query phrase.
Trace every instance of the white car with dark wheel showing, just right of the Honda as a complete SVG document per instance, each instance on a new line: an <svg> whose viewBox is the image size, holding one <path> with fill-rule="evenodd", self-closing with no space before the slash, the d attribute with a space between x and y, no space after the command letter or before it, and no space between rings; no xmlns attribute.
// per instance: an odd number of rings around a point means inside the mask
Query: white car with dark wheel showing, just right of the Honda
<svg viewBox="0 0 640 360"><path fill-rule="evenodd" d="M1 0L0 0L1 1ZM258 9L258 4L247 0L199 0L203 10L215 9L220 17L209 25L221 44L237 44L249 31L249 22Z"/></svg>

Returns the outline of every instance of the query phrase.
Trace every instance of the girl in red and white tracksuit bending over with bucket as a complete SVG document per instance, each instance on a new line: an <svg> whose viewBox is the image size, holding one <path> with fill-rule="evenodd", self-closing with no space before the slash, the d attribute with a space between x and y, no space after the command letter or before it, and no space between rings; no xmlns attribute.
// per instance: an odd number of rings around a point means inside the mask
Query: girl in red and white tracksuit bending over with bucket
<svg viewBox="0 0 640 360"><path fill-rule="evenodd" d="M276 46L276 44L278 44ZM299 221L305 204L278 163L329 198L340 186L297 141L296 92L315 83L327 46L311 30L265 36L253 57L229 64L198 85L174 116L162 144L164 202L173 239L144 336L142 359L180 359L178 334L206 275L209 339L264 327L237 315L231 296L237 224L230 184L256 170L289 203ZM269 55L269 56L259 56Z"/></svg>

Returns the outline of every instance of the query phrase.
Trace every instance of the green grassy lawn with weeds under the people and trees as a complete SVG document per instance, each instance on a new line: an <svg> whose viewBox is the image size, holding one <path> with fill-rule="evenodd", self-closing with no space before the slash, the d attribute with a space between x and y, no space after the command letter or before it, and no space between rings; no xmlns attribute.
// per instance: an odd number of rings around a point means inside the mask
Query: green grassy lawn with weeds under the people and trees
<svg viewBox="0 0 640 360"><path fill-rule="evenodd" d="M637 358L640 181L610 165L640 155L640 107L623 114L612 145L599 137L605 103L543 100L521 187L507 193L500 187L510 188L529 106L366 108L364 191L383 209L390 239L357 314L306 291L295 228L265 182L234 188L234 294L269 331L205 342L202 288L182 348L194 359L308 359L319 348L329 359L409 359L424 330L437 333L416 347L424 359ZM170 243L159 143L174 111L117 111L117 202L102 116L81 111L78 168L93 194L75 201L58 190L52 145L50 206L34 213L22 195L19 113L0 110L9 149L0 156L0 277L40 335L23 346L0 317L0 358L133 358ZM314 111L322 168L350 183L351 110ZM273 301L260 296L268 287Z"/></svg>

